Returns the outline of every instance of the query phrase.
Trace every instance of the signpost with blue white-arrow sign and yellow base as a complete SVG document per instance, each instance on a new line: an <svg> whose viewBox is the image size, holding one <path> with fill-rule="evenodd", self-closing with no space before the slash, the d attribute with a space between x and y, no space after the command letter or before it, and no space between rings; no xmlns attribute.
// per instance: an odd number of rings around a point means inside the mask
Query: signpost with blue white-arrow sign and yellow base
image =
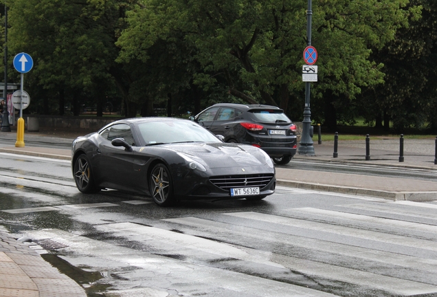
<svg viewBox="0 0 437 297"><path fill-rule="evenodd" d="M29 106L30 96L25 91L23 91L23 81L24 74L30 72L30 69L34 67L34 61L32 57L25 53L17 54L14 57L14 67L17 72L21 73L21 90L15 91L12 94L12 103L14 107L20 109L20 118L18 119L16 125L16 147L24 147L24 120L23 120L23 109Z"/></svg>

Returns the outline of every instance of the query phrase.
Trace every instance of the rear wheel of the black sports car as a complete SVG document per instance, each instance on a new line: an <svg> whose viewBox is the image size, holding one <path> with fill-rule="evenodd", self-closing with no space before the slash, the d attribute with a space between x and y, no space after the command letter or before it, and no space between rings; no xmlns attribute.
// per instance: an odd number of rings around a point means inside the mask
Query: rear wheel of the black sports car
<svg viewBox="0 0 437 297"><path fill-rule="evenodd" d="M96 187L93 170L91 170L87 155L79 155L74 162L74 181L82 193L92 194L100 191L100 188Z"/></svg>

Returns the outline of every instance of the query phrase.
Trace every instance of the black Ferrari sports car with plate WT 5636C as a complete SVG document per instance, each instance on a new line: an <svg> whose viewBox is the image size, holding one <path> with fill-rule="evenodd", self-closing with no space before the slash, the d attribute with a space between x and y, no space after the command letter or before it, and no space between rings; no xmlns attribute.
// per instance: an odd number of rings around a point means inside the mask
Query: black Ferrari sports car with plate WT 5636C
<svg viewBox="0 0 437 297"><path fill-rule="evenodd" d="M159 206L181 199L258 200L276 186L273 162L260 148L222 142L177 118L118 120L74 140L71 157L80 192L138 192Z"/></svg>

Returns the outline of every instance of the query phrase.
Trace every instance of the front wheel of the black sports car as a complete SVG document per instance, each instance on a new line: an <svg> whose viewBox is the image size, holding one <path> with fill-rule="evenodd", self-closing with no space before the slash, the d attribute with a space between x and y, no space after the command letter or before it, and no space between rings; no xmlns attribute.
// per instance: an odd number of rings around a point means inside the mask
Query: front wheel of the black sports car
<svg viewBox="0 0 437 297"><path fill-rule="evenodd" d="M150 195L158 206L170 206L175 202L170 170L164 164L157 164L150 173Z"/></svg>

